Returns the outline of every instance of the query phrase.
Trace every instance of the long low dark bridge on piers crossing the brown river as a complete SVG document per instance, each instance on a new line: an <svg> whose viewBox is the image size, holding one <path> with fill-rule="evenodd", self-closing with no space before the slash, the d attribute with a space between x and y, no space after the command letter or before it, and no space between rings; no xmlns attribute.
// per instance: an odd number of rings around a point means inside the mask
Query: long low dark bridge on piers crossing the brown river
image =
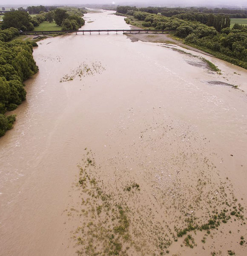
<svg viewBox="0 0 247 256"><path fill-rule="evenodd" d="M164 33L169 33L169 32L175 32L175 30L164 30L164 29L87 29L87 30L77 30L77 31L61 31L61 30L56 30L56 31L25 31L25 32L20 32L22 35L49 35L49 34L57 34L57 33L82 33L83 35L85 33L98 33L100 34L101 32L123 32L123 34L164 34Z"/></svg>

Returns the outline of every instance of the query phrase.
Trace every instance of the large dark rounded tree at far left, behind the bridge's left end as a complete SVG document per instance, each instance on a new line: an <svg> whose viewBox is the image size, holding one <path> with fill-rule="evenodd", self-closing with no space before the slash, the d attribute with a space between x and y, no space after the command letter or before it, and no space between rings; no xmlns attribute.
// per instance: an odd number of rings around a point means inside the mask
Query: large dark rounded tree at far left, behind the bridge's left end
<svg viewBox="0 0 247 256"><path fill-rule="evenodd" d="M2 27L3 29L14 27L22 31L34 30L34 26L31 23L31 17L27 12L23 12L23 11L7 12L3 16Z"/></svg>

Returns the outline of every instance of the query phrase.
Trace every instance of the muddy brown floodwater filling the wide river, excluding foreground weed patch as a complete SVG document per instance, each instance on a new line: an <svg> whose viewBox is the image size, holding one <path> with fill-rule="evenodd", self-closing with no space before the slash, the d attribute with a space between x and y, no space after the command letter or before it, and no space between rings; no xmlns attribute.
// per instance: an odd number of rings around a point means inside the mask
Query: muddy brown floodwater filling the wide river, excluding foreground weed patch
<svg viewBox="0 0 247 256"><path fill-rule="evenodd" d="M129 28L111 13L85 15L83 29ZM211 157L216 176L230 180L246 207L246 70L186 50L221 69L210 72L199 58L161 44L133 43L121 33L78 33L38 44L40 71L26 81L27 99L12 111L14 128L0 139L1 256L76 255L69 238L77 224L66 226L63 211L77 200L72 183L85 148L102 166L125 166L123 179L133 175L146 188L152 180L159 184L155 189L165 189L158 173L164 165L163 171L190 170L178 155L198 154L192 159L197 167L200 157ZM161 127L172 131L164 135ZM101 168L101 175L113 172Z"/></svg>

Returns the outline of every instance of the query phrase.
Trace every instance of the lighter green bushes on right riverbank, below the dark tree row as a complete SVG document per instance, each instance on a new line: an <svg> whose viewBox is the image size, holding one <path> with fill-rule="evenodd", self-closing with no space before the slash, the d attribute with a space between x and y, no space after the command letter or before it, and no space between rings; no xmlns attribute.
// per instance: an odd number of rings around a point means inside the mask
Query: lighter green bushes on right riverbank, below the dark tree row
<svg viewBox="0 0 247 256"><path fill-rule="evenodd" d="M183 44L190 45L190 47L195 47L224 61L228 61L247 69L247 63L243 52L244 45L243 42L238 39L238 36L240 36L241 33L243 33L244 38L246 38L244 30L231 31L229 28L228 32L223 32L222 30L223 33L218 33L215 28L201 23L194 24L197 27L197 30L195 30L195 26L190 21L181 19L175 20L173 17L164 17L161 15L149 14L147 12L135 12L134 16L126 15L125 21L128 24L144 27L145 29L166 28L176 30L175 34L178 37L176 38L174 35L172 37ZM190 32L185 32L184 26L190 28ZM207 31L207 33L204 34L203 31ZM226 43L228 38L231 37L232 39L230 40L230 43ZM225 43L222 43L223 41ZM233 43L241 45L241 53L233 50Z"/></svg>

